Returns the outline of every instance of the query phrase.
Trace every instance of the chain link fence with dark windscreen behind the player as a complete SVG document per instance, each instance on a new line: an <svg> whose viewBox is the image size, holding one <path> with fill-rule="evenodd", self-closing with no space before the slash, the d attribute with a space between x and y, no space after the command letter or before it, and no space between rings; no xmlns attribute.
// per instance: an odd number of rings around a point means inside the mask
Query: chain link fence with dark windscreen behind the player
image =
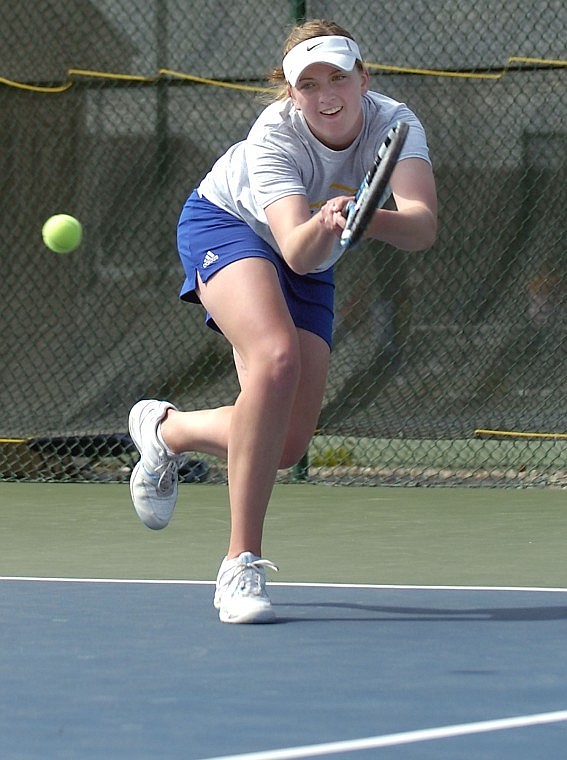
<svg viewBox="0 0 567 760"><path fill-rule="evenodd" d="M122 480L139 398L238 392L182 304L181 206L263 107L294 17L356 37L423 121L426 253L337 266L335 349L301 468L336 483L567 485L567 6L562 0L0 0L0 478ZM54 213L83 244L44 248ZM198 460L186 479L224 478Z"/></svg>

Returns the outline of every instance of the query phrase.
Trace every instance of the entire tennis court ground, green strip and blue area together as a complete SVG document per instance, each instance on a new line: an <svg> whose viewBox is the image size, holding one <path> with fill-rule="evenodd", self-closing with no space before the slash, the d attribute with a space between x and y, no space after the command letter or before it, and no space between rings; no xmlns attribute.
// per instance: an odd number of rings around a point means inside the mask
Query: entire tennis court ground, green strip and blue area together
<svg viewBox="0 0 567 760"><path fill-rule="evenodd" d="M564 756L561 490L279 485L270 626L213 609L222 486L0 500L2 757Z"/></svg>

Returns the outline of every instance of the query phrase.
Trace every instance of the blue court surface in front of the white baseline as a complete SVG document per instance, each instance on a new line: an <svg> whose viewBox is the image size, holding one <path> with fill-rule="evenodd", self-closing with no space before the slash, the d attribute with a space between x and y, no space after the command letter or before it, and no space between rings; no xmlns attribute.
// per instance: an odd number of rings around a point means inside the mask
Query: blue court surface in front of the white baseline
<svg viewBox="0 0 567 760"><path fill-rule="evenodd" d="M270 588L3 580L0 755L565 757L564 590Z"/></svg>

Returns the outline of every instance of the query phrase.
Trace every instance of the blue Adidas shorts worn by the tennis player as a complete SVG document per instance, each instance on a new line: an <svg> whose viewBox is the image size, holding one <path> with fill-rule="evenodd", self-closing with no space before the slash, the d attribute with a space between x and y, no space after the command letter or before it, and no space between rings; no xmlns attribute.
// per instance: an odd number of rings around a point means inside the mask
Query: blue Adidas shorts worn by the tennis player
<svg viewBox="0 0 567 760"><path fill-rule="evenodd" d="M185 270L181 300L200 303L196 293L197 272L206 282L219 269L239 259L268 259L277 270L295 326L319 335L332 345L335 294L332 267L317 274L296 274L246 222L201 198L196 191L181 212L177 247ZM210 314L206 322L220 332Z"/></svg>

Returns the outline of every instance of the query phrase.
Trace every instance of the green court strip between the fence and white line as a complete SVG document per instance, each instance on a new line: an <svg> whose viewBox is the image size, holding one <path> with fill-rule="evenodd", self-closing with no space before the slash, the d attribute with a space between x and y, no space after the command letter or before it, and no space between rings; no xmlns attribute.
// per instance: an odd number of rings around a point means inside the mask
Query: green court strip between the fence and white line
<svg viewBox="0 0 567 760"><path fill-rule="evenodd" d="M226 488L182 485L163 531L127 484L0 484L0 575L211 580ZM275 488L264 555L281 582L567 587L567 494L552 489Z"/></svg>

